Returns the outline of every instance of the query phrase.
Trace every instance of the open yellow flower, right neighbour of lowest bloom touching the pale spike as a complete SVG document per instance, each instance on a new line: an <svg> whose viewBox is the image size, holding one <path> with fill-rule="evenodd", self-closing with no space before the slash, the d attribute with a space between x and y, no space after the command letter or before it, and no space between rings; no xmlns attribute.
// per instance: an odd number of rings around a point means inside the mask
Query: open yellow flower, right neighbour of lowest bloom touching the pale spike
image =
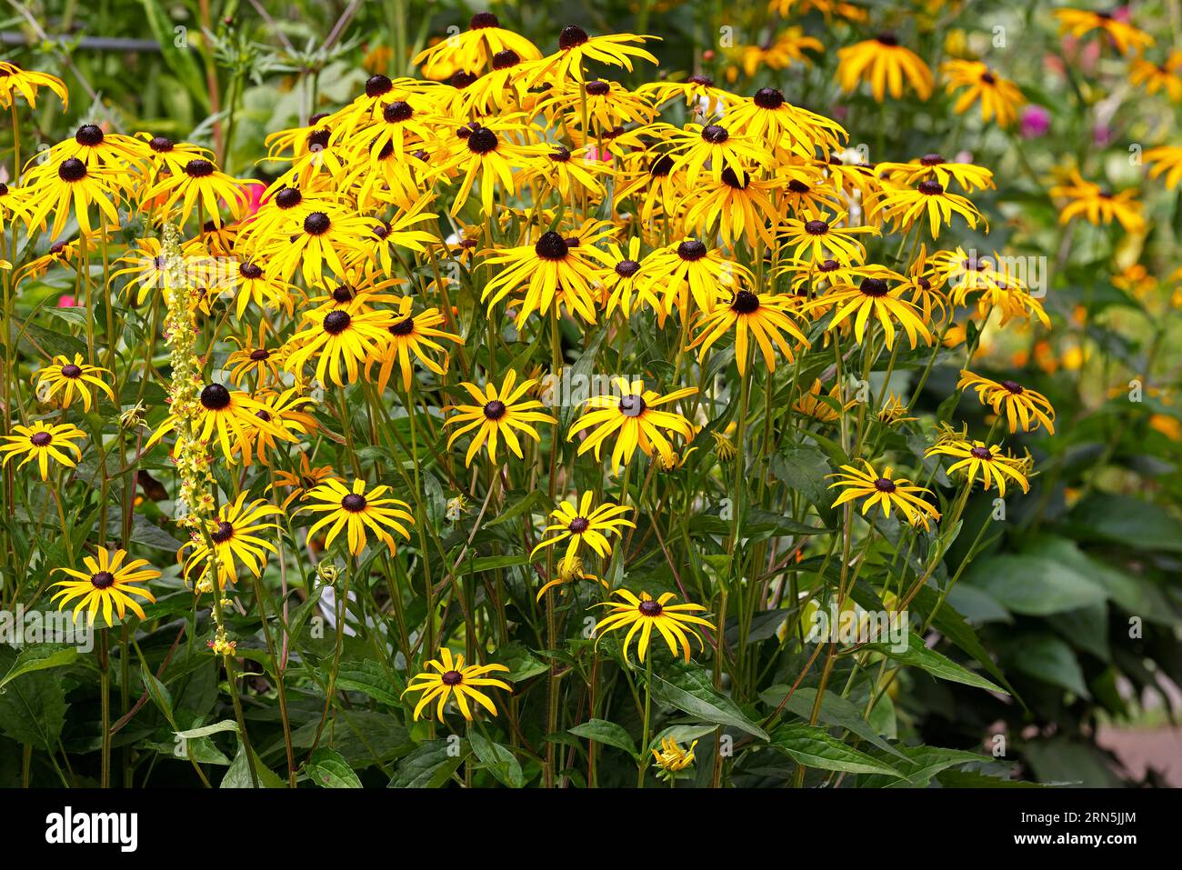
<svg viewBox="0 0 1182 870"><path fill-rule="evenodd" d="M364 480L353 480L352 489L349 489L344 481L332 478L309 491L304 498L311 504L297 508L296 512L312 511L325 514L307 530L309 537L312 537L322 528L329 527L324 541L325 548L332 546L333 539L345 530L349 537L349 552L353 556L361 556L365 550L365 537L369 533L376 534L377 539L394 553L396 546L390 530L410 540L410 532L403 524L414 525L415 518L410 514L410 505L405 501L383 498L389 489L388 486L376 486L366 492Z"/></svg>

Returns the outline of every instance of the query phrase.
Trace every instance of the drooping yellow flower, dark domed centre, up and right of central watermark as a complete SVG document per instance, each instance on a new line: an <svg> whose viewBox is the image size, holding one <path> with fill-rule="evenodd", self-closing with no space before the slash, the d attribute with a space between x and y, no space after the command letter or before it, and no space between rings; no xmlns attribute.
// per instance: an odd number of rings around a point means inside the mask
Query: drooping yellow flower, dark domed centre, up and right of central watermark
<svg viewBox="0 0 1182 870"><path fill-rule="evenodd" d="M702 331L689 345L701 346L706 353L719 338L735 330L735 363L740 377L747 374L748 340L755 339L764 364L768 371L775 371L774 343L784 357L791 363L795 356L784 333L787 332L799 346L808 346L808 339L797 326L790 314L795 314L797 300L787 296L758 296L749 290L740 290L730 299L729 305L720 305L714 311L701 316ZM749 336L748 336L749 333Z"/></svg>

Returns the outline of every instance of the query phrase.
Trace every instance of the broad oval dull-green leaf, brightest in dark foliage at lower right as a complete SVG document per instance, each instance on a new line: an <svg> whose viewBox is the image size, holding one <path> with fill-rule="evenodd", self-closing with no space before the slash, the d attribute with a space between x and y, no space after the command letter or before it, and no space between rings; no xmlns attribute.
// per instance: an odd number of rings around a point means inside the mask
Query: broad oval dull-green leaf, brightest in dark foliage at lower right
<svg viewBox="0 0 1182 870"><path fill-rule="evenodd" d="M1103 586L1072 566L1032 553L1006 553L974 563L965 582L1027 616L1079 610L1106 597Z"/></svg>

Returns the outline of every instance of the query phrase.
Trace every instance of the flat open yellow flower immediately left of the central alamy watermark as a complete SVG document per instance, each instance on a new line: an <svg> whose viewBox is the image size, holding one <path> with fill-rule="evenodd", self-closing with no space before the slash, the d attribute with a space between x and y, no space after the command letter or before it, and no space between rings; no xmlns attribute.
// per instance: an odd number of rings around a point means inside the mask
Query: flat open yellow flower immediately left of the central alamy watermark
<svg viewBox="0 0 1182 870"><path fill-rule="evenodd" d="M473 457L485 444L487 444L488 459L492 462L496 462L496 446L500 439L505 440L505 443L513 452L514 456L524 460L525 455L521 453L521 442L518 439L518 431L540 442L541 436L538 435L538 430L533 427L533 423L558 422L550 414L537 410L543 407L541 402L534 398L525 398L533 384L533 381L522 381L518 384L517 372L512 369L506 372L500 389L496 389L496 385L493 383L485 384L483 389L468 382L460 384L468 391L475 404L448 405L444 408L446 411L459 411L459 414L454 414L444 420L443 426L463 423L463 426L453 431L448 437L448 448L461 435L475 429L472 444L468 446L468 453L463 457L465 466L472 465Z"/></svg>

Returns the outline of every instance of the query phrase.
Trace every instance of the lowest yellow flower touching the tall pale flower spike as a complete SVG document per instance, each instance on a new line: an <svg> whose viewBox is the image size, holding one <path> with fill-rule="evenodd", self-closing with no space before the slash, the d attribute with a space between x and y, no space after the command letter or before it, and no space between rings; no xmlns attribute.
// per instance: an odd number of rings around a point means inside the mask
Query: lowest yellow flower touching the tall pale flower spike
<svg viewBox="0 0 1182 870"><path fill-rule="evenodd" d="M264 565L267 564L267 553L277 552L275 545L260 535L268 530L279 528L277 522L264 520L282 515L282 511L268 504L266 499L255 499L247 505L246 495L240 493L233 502L222 505L217 511L217 518L209 522L209 540L213 541L214 552L217 554L217 589L222 589L227 583L238 583L240 565L252 576L260 576ZM203 577L209 563L209 544L206 543L204 535L193 532L191 539L177 551L176 560L183 564L186 577L194 584L208 579ZM201 573L193 577L197 570Z"/></svg>

